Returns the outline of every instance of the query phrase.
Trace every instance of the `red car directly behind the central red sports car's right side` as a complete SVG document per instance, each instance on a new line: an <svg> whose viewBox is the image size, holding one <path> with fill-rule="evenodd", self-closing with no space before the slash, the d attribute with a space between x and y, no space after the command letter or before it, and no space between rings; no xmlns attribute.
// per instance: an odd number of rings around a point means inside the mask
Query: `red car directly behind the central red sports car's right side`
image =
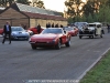
<svg viewBox="0 0 110 83"><path fill-rule="evenodd" d="M72 37L78 34L78 29L76 27L65 27L64 30L67 31Z"/></svg>

